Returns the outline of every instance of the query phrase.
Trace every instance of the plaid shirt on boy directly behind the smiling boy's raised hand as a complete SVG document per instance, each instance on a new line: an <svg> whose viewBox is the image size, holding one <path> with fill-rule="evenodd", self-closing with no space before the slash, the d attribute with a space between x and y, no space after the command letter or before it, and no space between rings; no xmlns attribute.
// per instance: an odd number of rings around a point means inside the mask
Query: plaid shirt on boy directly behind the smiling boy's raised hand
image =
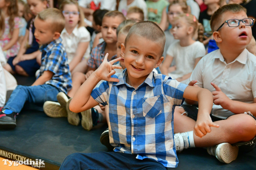
<svg viewBox="0 0 256 170"><path fill-rule="evenodd" d="M99 68L100 64L103 62L103 59L105 57L105 47L106 47L106 42L104 41L92 49L91 56L87 62L87 65L90 68L95 68L95 69ZM112 56L111 60L115 58L116 58L116 55Z"/></svg>

